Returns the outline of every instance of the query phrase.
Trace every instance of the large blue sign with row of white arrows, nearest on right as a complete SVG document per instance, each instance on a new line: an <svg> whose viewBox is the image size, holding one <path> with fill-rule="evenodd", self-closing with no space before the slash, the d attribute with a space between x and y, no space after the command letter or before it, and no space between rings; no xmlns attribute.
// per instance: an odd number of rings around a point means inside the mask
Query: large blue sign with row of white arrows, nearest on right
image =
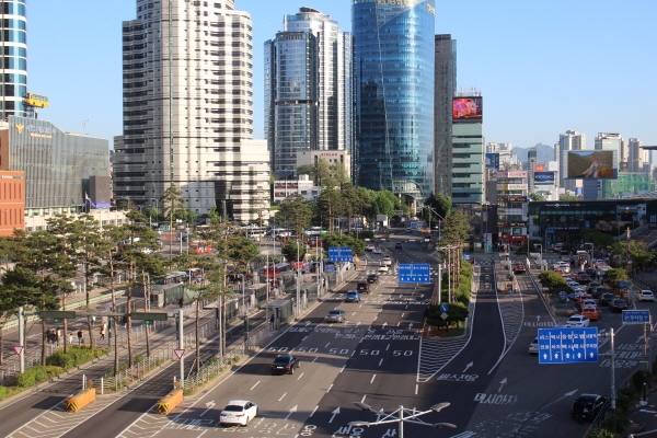
<svg viewBox="0 0 657 438"><path fill-rule="evenodd" d="M539 364L598 361L598 327L539 328Z"/></svg>

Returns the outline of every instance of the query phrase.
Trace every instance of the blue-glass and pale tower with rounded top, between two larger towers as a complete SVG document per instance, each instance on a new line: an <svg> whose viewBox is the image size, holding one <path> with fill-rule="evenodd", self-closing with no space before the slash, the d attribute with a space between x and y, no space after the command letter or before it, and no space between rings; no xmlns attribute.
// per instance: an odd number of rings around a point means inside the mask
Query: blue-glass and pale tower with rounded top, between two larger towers
<svg viewBox="0 0 657 438"><path fill-rule="evenodd" d="M296 173L300 151L353 149L351 78L351 35L318 10L287 15L284 31L265 42L265 131L275 175Z"/></svg>

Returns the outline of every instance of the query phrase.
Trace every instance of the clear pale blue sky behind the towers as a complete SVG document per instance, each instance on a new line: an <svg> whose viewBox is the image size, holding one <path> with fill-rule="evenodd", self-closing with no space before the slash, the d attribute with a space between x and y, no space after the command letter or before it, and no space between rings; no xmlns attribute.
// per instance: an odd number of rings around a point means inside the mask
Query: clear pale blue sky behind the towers
<svg viewBox="0 0 657 438"><path fill-rule="evenodd" d="M263 129L263 43L300 7L350 30L349 0L235 0L254 27L255 138ZM28 0L28 89L50 97L39 118L65 131L122 134L122 21L135 0ZM458 87L484 96L486 141L554 145L567 129L657 145L657 1L436 2L436 33L458 44Z"/></svg>

